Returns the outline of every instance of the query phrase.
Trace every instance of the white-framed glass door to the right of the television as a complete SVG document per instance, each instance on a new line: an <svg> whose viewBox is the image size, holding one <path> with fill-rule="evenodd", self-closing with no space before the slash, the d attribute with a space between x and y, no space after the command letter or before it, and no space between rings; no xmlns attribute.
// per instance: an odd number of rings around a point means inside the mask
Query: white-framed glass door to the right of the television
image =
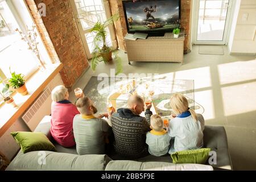
<svg viewBox="0 0 256 182"><path fill-rule="evenodd" d="M232 0L196 0L193 44L226 44Z"/></svg>

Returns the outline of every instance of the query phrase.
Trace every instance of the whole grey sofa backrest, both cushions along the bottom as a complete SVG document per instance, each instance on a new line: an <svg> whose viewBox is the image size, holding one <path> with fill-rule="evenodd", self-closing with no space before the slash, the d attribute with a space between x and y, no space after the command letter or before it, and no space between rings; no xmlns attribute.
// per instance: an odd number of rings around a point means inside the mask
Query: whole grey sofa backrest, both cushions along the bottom
<svg viewBox="0 0 256 182"><path fill-rule="evenodd" d="M75 155L52 151L20 152L6 171L213 171L202 164L112 160L107 155Z"/></svg>

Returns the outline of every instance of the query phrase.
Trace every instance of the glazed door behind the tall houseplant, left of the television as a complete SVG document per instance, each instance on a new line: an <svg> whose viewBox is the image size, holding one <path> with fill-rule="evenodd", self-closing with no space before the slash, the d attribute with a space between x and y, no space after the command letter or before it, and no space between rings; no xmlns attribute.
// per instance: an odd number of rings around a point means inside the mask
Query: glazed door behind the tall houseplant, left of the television
<svg viewBox="0 0 256 182"><path fill-rule="evenodd" d="M89 30L96 22L104 22L111 16L109 2L107 0L70 0L70 2L87 59L92 59L94 33L90 33ZM117 40L115 39L113 25L110 25L107 31L108 46L116 49Z"/></svg>

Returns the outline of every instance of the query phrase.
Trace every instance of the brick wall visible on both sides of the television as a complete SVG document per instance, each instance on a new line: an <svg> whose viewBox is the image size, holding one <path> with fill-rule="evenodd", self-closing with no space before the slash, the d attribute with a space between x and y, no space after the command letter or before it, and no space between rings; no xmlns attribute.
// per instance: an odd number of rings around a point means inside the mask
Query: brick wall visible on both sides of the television
<svg viewBox="0 0 256 182"><path fill-rule="evenodd" d="M115 29L117 33L118 45L119 48L126 50L125 41L123 36L127 33L126 23L125 23L125 14L123 13L123 6L121 0L109 0L110 9L112 14L119 13L120 19L115 23ZM185 30L185 40L184 40L184 52L187 53L191 49L190 45L190 9L191 9L191 0L181 0L181 28Z"/></svg>

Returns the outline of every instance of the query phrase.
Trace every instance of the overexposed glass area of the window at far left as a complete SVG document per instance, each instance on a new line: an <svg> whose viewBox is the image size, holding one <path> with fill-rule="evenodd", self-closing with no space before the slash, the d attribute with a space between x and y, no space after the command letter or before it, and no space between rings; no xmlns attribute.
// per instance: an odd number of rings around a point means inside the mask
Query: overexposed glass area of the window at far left
<svg viewBox="0 0 256 182"><path fill-rule="evenodd" d="M21 40L16 28L20 28L10 5L0 0L0 69L5 77L10 77L11 71L23 73L29 77L38 69L35 55L28 50L27 43ZM26 32L23 31L24 34ZM4 77L4 76L1 76Z"/></svg>

